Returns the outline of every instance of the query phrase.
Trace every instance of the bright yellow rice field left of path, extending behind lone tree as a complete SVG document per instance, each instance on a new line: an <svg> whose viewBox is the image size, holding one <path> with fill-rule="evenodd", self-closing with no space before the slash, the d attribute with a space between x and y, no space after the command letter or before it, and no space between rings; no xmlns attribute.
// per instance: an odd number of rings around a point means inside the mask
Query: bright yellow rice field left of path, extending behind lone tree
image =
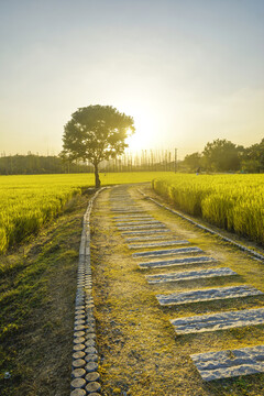
<svg viewBox="0 0 264 396"><path fill-rule="evenodd" d="M163 173L101 174L105 185L151 182ZM63 212L74 196L94 186L94 174L0 176L0 253Z"/></svg>

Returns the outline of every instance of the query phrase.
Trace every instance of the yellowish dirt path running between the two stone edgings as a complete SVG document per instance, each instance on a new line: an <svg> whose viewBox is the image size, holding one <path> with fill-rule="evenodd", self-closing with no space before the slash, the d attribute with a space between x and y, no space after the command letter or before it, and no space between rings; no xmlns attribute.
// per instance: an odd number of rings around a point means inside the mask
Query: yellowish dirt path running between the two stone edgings
<svg viewBox="0 0 264 396"><path fill-rule="evenodd" d="M254 321L260 314L263 323L263 263L145 200L136 188L103 191L91 221L103 395L262 395L263 374L206 382L190 356L264 343L264 326ZM177 279L164 282L172 273ZM205 331L196 322L186 331L187 317L248 310L246 326Z"/></svg>

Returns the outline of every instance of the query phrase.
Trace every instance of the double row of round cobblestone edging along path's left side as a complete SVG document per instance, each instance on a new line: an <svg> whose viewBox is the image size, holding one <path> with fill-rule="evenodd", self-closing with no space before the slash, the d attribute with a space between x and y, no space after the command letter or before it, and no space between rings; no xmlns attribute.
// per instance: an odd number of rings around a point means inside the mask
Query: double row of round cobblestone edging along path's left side
<svg viewBox="0 0 264 396"><path fill-rule="evenodd" d="M70 396L99 395L96 321L94 317L92 279L90 265L90 213L100 191L90 199L82 221L75 300L75 326Z"/></svg>

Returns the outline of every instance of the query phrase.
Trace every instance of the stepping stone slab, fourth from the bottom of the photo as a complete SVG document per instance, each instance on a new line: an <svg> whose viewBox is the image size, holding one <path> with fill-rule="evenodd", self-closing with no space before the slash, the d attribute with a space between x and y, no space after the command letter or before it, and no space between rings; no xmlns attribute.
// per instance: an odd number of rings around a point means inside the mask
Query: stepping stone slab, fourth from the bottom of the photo
<svg viewBox="0 0 264 396"><path fill-rule="evenodd" d="M160 284L166 282L204 279L216 276L230 276L230 275L238 275L238 274L234 271L226 267L226 268L208 268L208 270L199 270L199 271L185 271L185 272L170 273L170 274L146 275L146 279L150 284Z"/></svg>

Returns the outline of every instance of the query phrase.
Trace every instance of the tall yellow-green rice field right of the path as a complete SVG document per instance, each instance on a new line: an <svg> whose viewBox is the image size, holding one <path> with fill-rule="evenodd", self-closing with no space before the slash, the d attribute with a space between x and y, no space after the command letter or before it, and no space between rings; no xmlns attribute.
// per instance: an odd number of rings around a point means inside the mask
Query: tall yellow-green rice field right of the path
<svg viewBox="0 0 264 396"><path fill-rule="evenodd" d="M264 175L175 174L152 186L178 209L264 245Z"/></svg>

